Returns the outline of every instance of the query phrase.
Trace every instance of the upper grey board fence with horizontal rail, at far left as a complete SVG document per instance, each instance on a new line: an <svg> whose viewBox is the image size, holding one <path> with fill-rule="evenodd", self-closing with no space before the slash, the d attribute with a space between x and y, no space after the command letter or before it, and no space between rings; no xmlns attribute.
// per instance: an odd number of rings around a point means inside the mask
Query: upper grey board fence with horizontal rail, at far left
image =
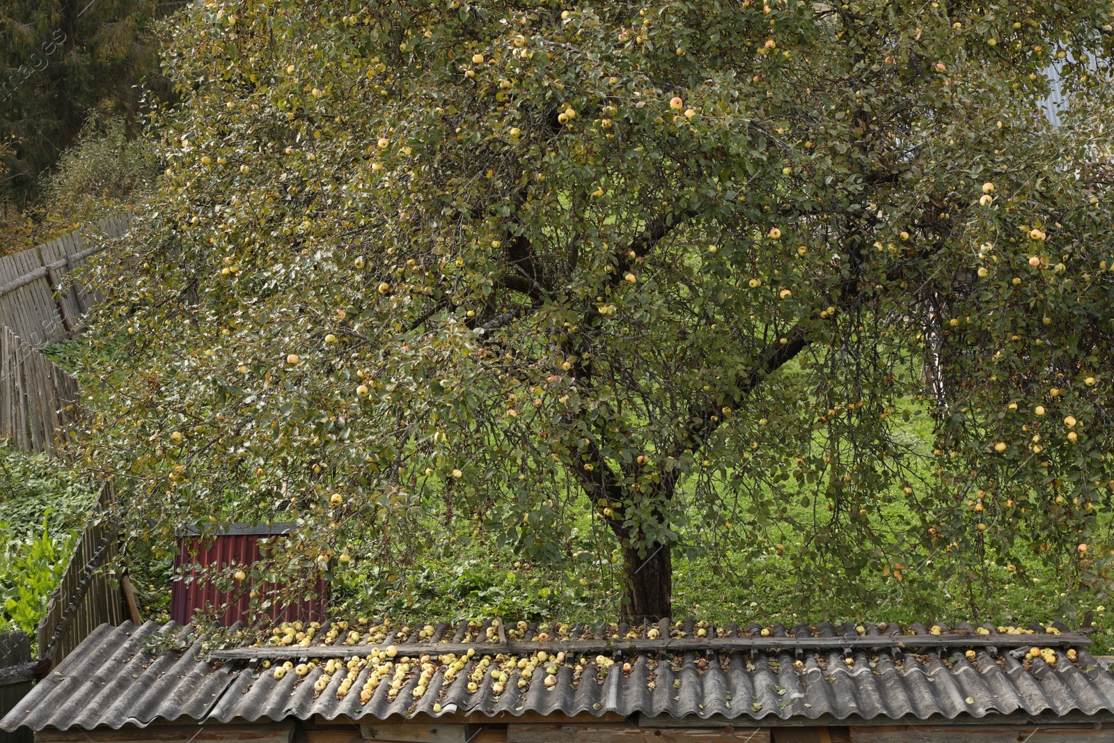
<svg viewBox="0 0 1114 743"><path fill-rule="evenodd" d="M90 236L120 237L131 224L130 214L101 219L45 245L0 257L0 324L11 327L26 343L41 349L71 338L96 296L66 275L81 267L104 248Z"/></svg>

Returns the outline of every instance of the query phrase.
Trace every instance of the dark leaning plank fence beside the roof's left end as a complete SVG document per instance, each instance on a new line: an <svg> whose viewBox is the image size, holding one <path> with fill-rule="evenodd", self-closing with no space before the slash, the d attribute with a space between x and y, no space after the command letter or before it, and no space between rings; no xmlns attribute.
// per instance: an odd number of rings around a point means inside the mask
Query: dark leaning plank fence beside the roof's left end
<svg viewBox="0 0 1114 743"><path fill-rule="evenodd" d="M115 499L113 486L100 488L100 509ZM119 541L105 524L90 524L74 548L69 566L50 596L47 614L39 622L39 657L58 665L82 639L105 624L123 624L124 597L117 579L108 574L119 553Z"/></svg>

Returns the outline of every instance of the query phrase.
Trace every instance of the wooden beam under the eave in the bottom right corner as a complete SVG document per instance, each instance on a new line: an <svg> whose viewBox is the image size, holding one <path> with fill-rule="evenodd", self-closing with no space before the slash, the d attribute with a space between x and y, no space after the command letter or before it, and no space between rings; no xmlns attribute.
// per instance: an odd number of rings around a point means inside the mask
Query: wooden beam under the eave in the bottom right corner
<svg viewBox="0 0 1114 743"><path fill-rule="evenodd" d="M1114 729L1095 725L878 725L851 726L851 743L1114 743Z"/></svg>

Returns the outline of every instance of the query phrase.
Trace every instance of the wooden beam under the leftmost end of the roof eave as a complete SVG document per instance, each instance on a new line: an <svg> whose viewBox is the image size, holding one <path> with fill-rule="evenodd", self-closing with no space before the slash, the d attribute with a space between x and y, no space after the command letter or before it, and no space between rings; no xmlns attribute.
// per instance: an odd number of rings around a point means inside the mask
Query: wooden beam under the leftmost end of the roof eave
<svg viewBox="0 0 1114 743"><path fill-rule="evenodd" d="M119 730L70 727L67 731L42 730L35 734L35 743L139 743L140 741L291 743L293 740L294 723L292 722L257 725L150 725L148 727L128 725Z"/></svg>

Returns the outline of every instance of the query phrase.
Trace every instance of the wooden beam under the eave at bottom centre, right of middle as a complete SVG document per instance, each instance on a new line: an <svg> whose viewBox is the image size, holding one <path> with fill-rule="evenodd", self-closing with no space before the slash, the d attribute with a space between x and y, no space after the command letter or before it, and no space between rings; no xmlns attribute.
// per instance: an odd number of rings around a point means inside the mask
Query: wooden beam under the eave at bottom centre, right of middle
<svg viewBox="0 0 1114 743"><path fill-rule="evenodd" d="M770 743L770 730L754 726L659 727L625 724L507 725L507 743Z"/></svg>

